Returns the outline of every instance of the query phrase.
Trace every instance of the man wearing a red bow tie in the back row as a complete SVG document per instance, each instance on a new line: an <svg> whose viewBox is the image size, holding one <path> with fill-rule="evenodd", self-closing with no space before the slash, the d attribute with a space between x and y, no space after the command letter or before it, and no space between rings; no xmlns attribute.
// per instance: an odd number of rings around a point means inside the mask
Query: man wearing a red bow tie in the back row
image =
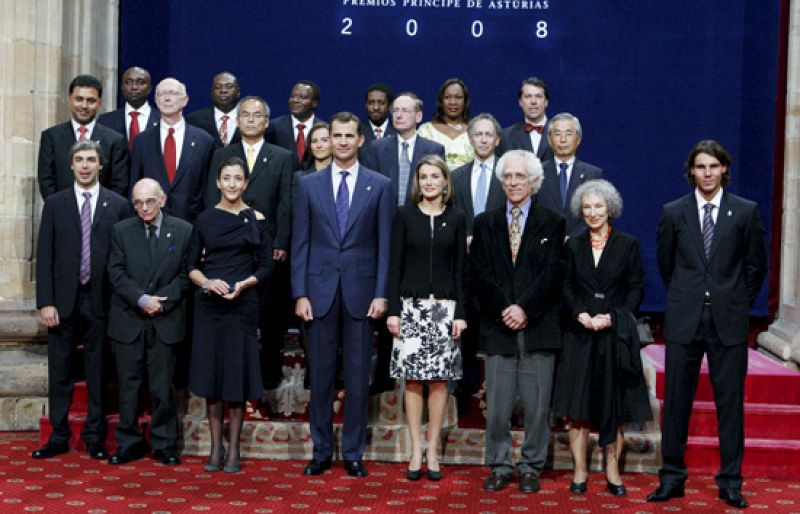
<svg viewBox="0 0 800 514"><path fill-rule="evenodd" d="M523 121L503 130L503 139L498 153L508 150L533 152L539 161L553 158L553 150L547 141L547 104L550 94L542 79L529 77L519 86L519 108L525 116Z"/></svg>

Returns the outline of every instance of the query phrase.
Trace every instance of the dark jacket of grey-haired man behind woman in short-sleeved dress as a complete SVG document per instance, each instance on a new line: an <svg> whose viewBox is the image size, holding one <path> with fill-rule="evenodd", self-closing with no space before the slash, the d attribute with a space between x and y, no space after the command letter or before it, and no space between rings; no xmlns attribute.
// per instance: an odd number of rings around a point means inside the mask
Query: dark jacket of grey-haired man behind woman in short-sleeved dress
<svg viewBox="0 0 800 514"><path fill-rule="evenodd" d="M225 159L239 157L247 163L244 144L238 143L214 152L206 180L206 205L216 205L220 199L217 171ZM250 170L250 180L244 191L244 202L260 211L266 218L273 246L288 250L292 230L292 155L279 146L264 143Z"/></svg>

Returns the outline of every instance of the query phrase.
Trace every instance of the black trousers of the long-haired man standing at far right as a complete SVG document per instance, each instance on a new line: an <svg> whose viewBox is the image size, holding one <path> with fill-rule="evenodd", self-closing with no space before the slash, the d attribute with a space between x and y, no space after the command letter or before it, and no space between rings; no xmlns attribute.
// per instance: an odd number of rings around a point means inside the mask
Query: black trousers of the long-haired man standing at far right
<svg viewBox="0 0 800 514"><path fill-rule="evenodd" d="M688 473L684 454L689 417L697 391L700 364L708 357L719 426L720 488L742 486L744 455L744 380L747 375L747 343L725 346L719 340L710 307L703 308L700 326L690 344L667 341L664 421L661 429L662 484L682 484Z"/></svg>

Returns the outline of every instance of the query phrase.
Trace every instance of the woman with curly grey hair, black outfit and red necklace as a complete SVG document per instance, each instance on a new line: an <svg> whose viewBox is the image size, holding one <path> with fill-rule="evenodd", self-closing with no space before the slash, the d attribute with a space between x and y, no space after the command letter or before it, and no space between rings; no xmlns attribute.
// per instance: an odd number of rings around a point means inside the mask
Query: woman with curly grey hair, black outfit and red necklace
<svg viewBox="0 0 800 514"><path fill-rule="evenodd" d="M625 496L619 471L622 425L651 419L633 313L644 295L639 242L609 224L622 198L606 180L582 184L571 210L589 227L567 242L561 360L553 409L569 420L575 467L570 491L586 492L589 429L605 448L606 488Z"/></svg>

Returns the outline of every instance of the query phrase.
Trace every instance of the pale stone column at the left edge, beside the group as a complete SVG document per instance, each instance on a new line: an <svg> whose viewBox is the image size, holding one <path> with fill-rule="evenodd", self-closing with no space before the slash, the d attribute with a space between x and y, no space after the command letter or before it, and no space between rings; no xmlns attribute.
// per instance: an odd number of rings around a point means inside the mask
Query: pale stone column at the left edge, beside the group
<svg viewBox="0 0 800 514"><path fill-rule="evenodd" d="M0 430L38 428L47 395L46 332L36 313L42 130L69 119L75 75L116 98L118 0L0 2Z"/></svg>

